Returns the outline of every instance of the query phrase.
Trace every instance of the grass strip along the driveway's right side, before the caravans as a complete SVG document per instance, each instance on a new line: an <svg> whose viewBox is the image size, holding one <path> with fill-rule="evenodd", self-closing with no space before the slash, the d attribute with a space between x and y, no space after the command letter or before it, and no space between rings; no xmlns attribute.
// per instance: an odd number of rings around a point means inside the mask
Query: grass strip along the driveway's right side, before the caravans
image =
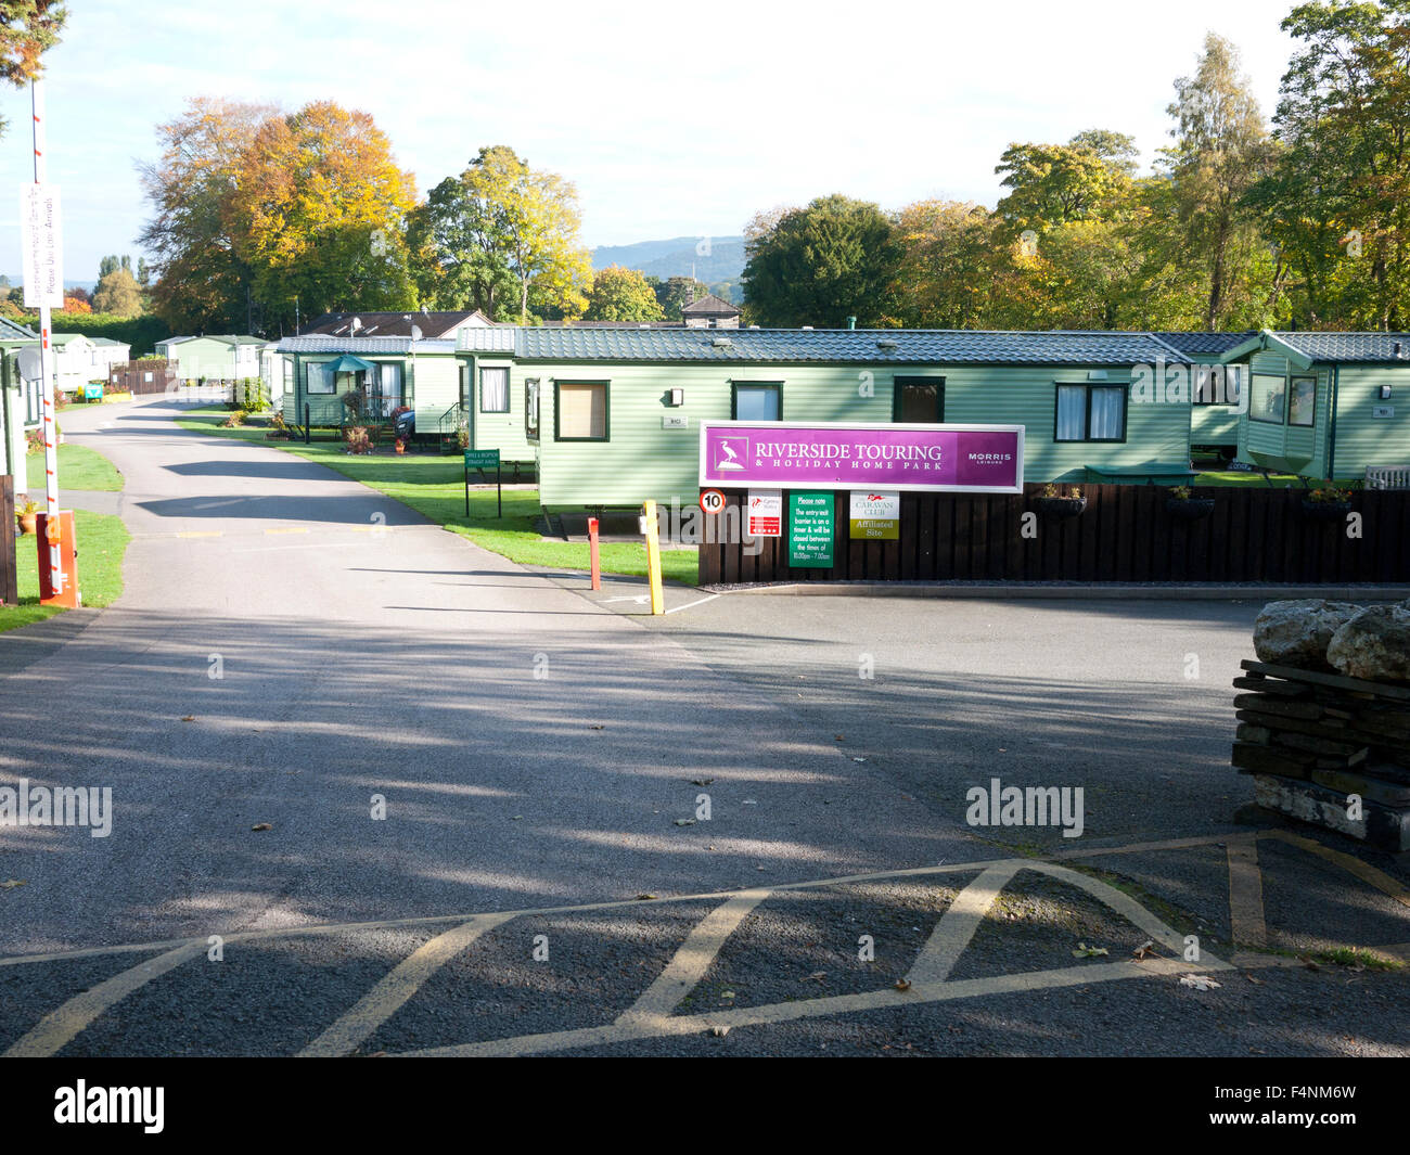
<svg viewBox="0 0 1410 1155"><path fill-rule="evenodd" d="M220 422L228 410L207 408L193 409L176 417L182 429L197 433L212 433L219 437L237 437L271 448L317 461L330 470L337 470L354 481L371 487L409 505L417 513L430 518L437 525L454 533L464 534L477 546L508 557L520 566L541 566L548 568L587 570L587 542L544 540L533 527L539 516L537 489L506 489L505 516L495 518L495 491L470 491L470 518L465 516L465 482L461 458L436 453L412 453L405 457L374 454L352 457L343 453L343 443L317 440L271 441L265 439L264 426L244 429L221 429ZM627 542L603 542L602 571L605 574L627 574L646 577L646 547ZM661 575L667 581L695 585L697 551L661 550Z"/></svg>

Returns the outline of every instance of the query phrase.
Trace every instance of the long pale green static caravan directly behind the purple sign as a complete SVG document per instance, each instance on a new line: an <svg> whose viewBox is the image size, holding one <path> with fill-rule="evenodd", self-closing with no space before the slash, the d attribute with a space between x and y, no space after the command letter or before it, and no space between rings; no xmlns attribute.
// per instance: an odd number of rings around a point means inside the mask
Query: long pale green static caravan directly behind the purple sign
<svg viewBox="0 0 1410 1155"><path fill-rule="evenodd" d="M1189 393L1132 391L1141 367L1153 375L1158 362L1190 365L1151 333L512 333L512 355L478 347L482 333L462 333L461 351L477 398L485 369L508 371L502 416L536 450L548 509L692 501L702 420L1022 424L1029 481L1191 475ZM501 379L492 372L498 405ZM484 432L484 415L474 416ZM495 424L488 436L498 434Z"/></svg>

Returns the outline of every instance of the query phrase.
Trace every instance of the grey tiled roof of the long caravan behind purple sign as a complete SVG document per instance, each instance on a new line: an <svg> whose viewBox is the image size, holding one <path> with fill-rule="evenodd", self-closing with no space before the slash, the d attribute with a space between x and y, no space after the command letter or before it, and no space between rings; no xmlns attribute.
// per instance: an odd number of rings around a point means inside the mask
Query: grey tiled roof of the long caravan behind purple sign
<svg viewBox="0 0 1410 1155"><path fill-rule="evenodd" d="M501 329L525 361L757 361L842 364L1138 365L1184 362L1151 333L918 329ZM482 351L482 333L460 348Z"/></svg>

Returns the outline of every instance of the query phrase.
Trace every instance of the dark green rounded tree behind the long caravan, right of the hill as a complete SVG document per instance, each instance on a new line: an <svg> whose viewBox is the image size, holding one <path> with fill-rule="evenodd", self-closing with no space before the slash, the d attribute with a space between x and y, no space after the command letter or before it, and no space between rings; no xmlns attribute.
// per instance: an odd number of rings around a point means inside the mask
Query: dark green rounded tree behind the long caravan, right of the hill
<svg viewBox="0 0 1410 1155"><path fill-rule="evenodd" d="M895 245L877 204L818 197L784 212L750 237L746 251L744 302L760 324L842 327L854 316L866 327L884 314Z"/></svg>

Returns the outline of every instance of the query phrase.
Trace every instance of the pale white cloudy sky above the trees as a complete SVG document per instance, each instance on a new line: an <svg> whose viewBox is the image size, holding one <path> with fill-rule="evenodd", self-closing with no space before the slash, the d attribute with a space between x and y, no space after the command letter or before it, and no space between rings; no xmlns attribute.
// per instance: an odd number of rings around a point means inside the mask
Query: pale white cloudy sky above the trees
<svg viewBox="0 0 1410 1155"><path fill-rule="evenodd" d="M72 0L48 56L49 179L65 276L131 252L134 165L190 96L369 111L424 192L485 144L577 182L589 245L739 233L830 192L897 209L998 196L1011 141L1083 128L1169 142L1166 104L1206 31L1232 39L1272 116L1292 0L1179 4L598 4ZM10 186L32 179L28 94L3 89ZM17 195L0 271L20 269Z"/></svg>

